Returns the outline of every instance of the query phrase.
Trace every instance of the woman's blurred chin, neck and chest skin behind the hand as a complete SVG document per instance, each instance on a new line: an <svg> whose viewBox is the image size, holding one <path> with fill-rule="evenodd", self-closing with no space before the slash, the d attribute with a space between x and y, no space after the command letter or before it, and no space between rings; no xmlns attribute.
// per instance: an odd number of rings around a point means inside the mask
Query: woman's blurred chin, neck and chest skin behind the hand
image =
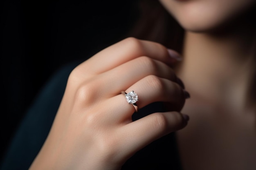
<svg viewBox="0 0 256 170"><path fill-rule="evenodd" d="M184 170L256 169L255 26L246 14L255 1L161 2L186 32L175 69L192 96L177 132Z"/></svg>

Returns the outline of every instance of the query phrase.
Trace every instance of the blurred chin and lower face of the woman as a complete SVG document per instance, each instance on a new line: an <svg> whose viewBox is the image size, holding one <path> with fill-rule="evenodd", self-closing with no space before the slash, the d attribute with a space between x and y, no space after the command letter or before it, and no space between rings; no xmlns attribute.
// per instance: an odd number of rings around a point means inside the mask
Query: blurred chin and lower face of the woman
<svg viewBox="0 0 256 170"><path fill-rule="evenodd" d="M159 0L189 31L208 31L230 21L250 7L256 0Z"/></svg>

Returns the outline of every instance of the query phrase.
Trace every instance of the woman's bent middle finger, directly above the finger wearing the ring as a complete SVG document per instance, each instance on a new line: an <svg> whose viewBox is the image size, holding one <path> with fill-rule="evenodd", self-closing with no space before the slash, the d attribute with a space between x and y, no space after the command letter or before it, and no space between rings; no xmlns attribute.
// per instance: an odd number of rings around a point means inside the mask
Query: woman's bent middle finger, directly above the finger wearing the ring
<svg viewBox="0 0 256 170"><path fill-rule="evenodd" d="M99 75L100 82L104 83L101 90L102 92L108 91L107 97L112 97L148 75L155 75L173 82L177 81L177 77L171 67L163 62L144 56Z"/></svg>

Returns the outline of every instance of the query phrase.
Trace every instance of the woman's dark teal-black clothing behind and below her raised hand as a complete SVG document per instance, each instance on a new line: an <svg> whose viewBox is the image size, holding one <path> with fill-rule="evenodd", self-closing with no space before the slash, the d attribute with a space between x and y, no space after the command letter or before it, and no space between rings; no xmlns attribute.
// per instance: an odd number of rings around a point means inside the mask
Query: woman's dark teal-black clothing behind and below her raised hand
<svg viewBox="0 0 256 170"><path fill-rule="evenodd" d="M1 170L27 170L42 147L52 126L58 106L63 97L67 78L79 62L63 67L53 75L31 105L21 122L16 135L2 160ZM155 111L161 103L154 103L141 108L132 116L136 120ZM150 132L149 132L150 133ZM171 133L154 141L133 155L122 167L122 170L181 170L180 159Z"/></svg>

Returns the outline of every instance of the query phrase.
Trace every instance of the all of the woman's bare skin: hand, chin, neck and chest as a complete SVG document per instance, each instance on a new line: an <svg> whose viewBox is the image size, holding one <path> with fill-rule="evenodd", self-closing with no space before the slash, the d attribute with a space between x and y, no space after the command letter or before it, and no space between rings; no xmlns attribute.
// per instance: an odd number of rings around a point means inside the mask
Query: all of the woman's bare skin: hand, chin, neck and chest
<svg viewBox="0 0 256 170"><path fill-rule="evenodd" d="M255 76L254 29L243 20L213 34L253 1L161 2L186 30L183 61L178 64L160 44L128 38L77 66L30 170L118 170L139 149L175 130L185 170L256 169L256 109L245 102ZM192 96L186 104L176 74ZM138 108L163 101L175 110L132 122L134 108L120 94L132 90ZM188 126L180 110L191 117Z"/></svg>

